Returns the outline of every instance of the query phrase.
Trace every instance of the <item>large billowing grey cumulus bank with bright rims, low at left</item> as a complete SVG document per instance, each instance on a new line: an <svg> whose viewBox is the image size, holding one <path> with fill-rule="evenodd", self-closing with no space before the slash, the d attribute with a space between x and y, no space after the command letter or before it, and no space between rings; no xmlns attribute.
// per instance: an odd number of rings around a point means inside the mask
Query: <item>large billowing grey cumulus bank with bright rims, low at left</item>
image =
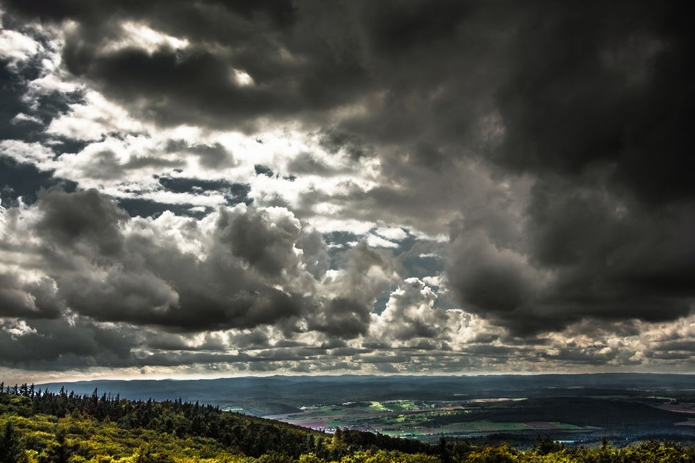
<svg viewBox="0 0 695 463"><path fill-rule="evenodd" d="M272 326L285 339L302 327L353 338L366 332L377 292L395 278L387 256L366 246L350 253L345 273L327 277L320 235L303 233L281 208L242 204L201 220L170 212L142 219L95 190L49 190L35 205L3 210L2 223L6 260L22 262L1 275L2 316L38 320L44 331L54 319L99 332ZM329 289L317 289L325 278ZM258 348L267 337L230 339Z"/></svg>

